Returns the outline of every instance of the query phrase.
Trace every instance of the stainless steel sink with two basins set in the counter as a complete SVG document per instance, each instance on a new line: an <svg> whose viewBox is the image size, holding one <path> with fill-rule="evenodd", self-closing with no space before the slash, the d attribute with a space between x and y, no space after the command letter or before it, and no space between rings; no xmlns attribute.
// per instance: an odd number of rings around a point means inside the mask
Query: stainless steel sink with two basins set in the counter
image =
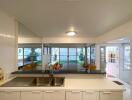
<svg viewBox="0 0 132 100"><path fill-rule="evenodd" d="M64 77L37 77L30 86L64 86Z"/></svg>

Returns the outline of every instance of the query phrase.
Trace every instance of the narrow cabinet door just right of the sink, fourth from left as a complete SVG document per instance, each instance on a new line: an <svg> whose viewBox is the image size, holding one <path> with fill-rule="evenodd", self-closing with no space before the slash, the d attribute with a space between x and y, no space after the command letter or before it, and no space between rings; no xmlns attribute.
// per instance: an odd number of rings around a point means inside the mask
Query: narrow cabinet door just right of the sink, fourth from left
<svg viewBox="0 0 132 100"><path fill-rule="evenodd" d="M82 100L83 94L81 91L67 91L66 100Z"/></svg>

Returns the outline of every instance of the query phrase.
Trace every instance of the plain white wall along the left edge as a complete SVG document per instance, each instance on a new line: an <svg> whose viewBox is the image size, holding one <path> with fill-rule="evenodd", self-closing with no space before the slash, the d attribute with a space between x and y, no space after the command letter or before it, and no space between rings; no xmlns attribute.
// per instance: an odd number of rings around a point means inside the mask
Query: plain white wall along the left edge
<svg viewBox="0 0 132 100"><path fill-rule="evenodd" d="M0 67L7 77L16 69L17 22L0 11Z"/></svg>

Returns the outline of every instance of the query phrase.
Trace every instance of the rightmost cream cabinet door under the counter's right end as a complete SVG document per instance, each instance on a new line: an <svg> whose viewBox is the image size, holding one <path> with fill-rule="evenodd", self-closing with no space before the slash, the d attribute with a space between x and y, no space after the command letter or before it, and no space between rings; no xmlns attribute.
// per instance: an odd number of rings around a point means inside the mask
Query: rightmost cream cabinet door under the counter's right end
<svg viewBox="0 0 132 100"><path fill-rule="evenodd" d="M123 92L100 92L100 100L123 100Z"/></svg>

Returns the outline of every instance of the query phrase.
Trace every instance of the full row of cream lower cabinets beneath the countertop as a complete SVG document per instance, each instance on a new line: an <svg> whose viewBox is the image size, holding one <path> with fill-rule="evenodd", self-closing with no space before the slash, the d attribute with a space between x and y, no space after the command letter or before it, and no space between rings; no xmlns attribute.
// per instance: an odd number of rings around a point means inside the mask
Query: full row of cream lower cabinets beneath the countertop
<svg viewBox="0 0 132 100"><path fill-rule="evenodd" d="M114 91L0 91L0 100L123 100L123 92Z"/></svg>

